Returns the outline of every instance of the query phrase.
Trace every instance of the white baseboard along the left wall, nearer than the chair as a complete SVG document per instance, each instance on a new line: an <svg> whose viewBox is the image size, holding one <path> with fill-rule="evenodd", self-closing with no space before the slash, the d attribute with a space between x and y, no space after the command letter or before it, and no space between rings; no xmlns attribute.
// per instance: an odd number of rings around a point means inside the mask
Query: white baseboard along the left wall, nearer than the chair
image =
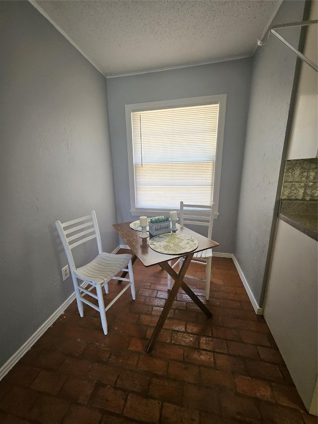
<svg viewBox="0 0 318 424"><path fill-rule="evenodd" d="M73 302L75 299L75 293L71 296L50 316L48 320L45 321L37 329L37 331L28 339L15 353L12 355L5 364L0 368L0 380L10 371L11 368L22 358L25 353L31 349L33 344L40 339L41 336L51 327L51 325L59 318L60 315L66 310L66 308Z"/></svg>

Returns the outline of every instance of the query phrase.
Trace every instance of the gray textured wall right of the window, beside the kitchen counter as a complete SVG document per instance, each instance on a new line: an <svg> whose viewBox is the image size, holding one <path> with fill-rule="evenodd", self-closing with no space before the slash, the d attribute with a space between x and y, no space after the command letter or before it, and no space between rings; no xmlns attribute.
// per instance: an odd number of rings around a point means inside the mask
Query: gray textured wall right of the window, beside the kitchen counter
<svg viewBox="0 0 318 424"><path fill-rule="evenodd" d="M284 1L273 24L302 20L304 5L304 1ZM298 28L279 32L298 47ZM253 59L235 255L259 304L296 55L271 35Z"/></svg>

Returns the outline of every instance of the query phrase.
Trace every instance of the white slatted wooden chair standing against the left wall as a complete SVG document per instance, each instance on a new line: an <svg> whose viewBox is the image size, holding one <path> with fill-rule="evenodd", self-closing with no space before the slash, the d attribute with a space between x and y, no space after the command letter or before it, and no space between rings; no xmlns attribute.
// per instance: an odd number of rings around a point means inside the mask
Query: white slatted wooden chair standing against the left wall
<svg viewBox="0 0 318 424"><path fill-rule="evenodd" d="M74 219L64 224L62 224L61 221L56 221L55 225L68 258L79 315L81 317L84 316L83 303L94 308L100 314L102 328L106 335L108 332L106 311L129 287L133 300L136 299L131 261L132 256L131 254L108 254L103 252L95 211L92 211L91 215L83 216L82 218ZM98 255L90 262L77 268L72 250L91 239L96 239L97 241ZM128 271L129 278L116 277L115 275L121 270ZM108 282L111 279L129 281L129 283L105 308L102 287L104 287L105 293L107 294ZM88 285L89 287L87 287ZM85 287L87 287L87 289ZM96 289L96 294L91 291L93 288ZM98 306L87 300L84 297L85 295L97 299Z"/></svg>

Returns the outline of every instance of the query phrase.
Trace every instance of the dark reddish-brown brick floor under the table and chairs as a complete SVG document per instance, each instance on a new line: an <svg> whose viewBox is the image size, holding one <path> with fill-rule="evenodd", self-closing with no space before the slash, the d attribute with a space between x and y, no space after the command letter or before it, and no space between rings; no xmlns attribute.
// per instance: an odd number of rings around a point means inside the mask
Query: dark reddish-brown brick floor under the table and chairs
<svg viewBox="0 0 318 424"><path fill-rule="evenodd" d="M230 258L214 257L210 300L204 271L186 278L213 312L179 291L151 354L145 352L167 297L159 266L134 264L127 291L107 312L76 302L0 382L4 424L314 424ZM110 284L107 299L119 287Z"/></svg>

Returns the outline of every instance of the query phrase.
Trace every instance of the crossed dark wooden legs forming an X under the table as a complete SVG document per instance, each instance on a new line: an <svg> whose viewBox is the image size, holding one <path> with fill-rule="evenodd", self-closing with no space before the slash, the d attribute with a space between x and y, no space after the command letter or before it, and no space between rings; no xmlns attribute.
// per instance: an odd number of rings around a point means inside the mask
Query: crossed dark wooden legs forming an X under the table
<svg viewBox="0 0 318 424"><path fill-rule="evenodd" d="M151 352L156 344L156 341L158 339L158 336L160 334L160 331L163 327L163 324L168 316L168 313L171 309L171 306L174 302L174 299L176 298L176 295L178 293L179 288L181 287L186 294L195 302L196 305L208 316L212 317L212 313L208 310L208 308L201 302L201 300L193 293L193 291L185 284L183 281L183 278L186 274L186 271L191 263L191 259L193 257L193 254L188 254L183 261L182 267L177 274L174 269L168 264L168 262L161 262L159 265L162 269L164 269L171 277L174 279L173 287L168 295L168 298L164 304L164 307L162 309L162 312L159 316L159 320L157 322L157 325L155 327L155 330L152 334L152 337L148 343L147 352Z"/></svg>

